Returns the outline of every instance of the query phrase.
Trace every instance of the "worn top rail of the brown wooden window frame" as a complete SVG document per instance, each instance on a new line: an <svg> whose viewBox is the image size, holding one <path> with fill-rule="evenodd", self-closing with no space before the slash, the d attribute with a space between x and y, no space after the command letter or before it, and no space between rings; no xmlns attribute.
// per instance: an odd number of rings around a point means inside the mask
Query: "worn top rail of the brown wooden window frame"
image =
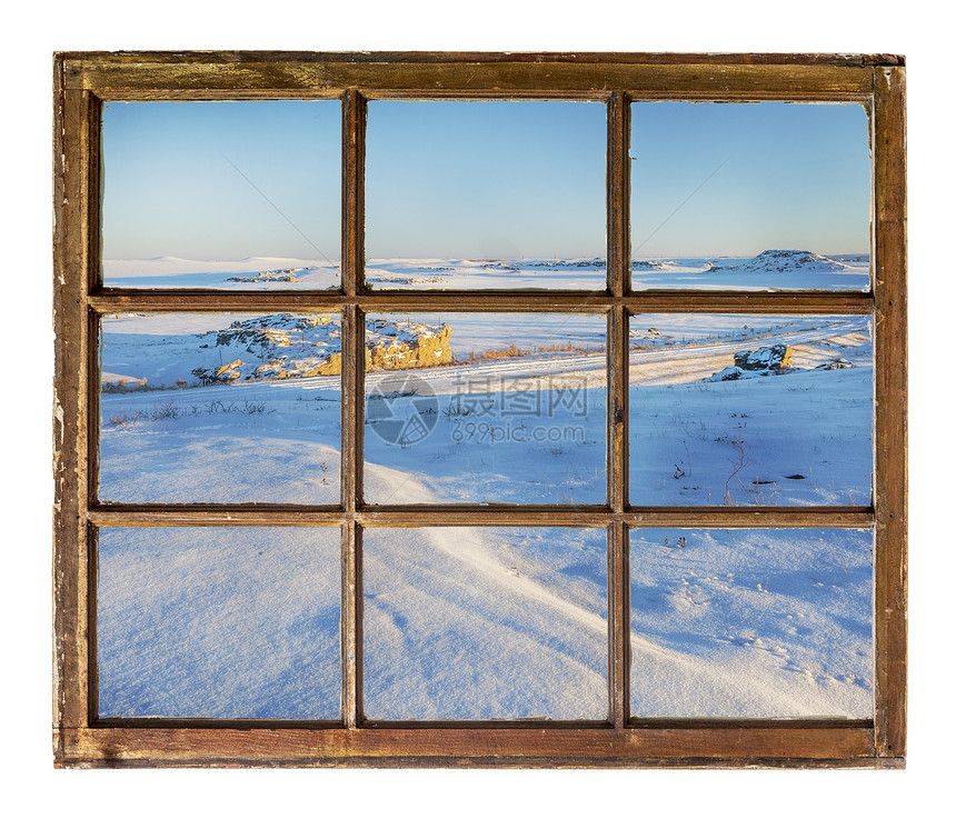
<svg viewBox="0 0 956 819"><path fill-rule="evenodd" d="M359 89L369 99L394 97L511 97L607 99L863 100L872 91L865 66L799 62L604 62L569 60L352 61L138 59L110 54L68 59L68 88L110 99L327 98Z"/></svg>

